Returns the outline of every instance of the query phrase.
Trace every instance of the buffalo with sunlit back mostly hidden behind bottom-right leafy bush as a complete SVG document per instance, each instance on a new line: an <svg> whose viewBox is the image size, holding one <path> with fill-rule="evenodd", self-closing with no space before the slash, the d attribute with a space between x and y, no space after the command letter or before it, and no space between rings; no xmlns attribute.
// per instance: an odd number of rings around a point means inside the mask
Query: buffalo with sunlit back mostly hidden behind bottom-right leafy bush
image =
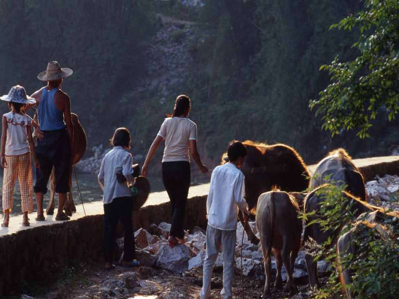
<svg viewBox="0 0 399 299"><path fill-rule="evenodd" d="M337 253L338 253L338 264L340 271L340 280L342 288L348 299L354 298L350 290L346 287L352 284L351 271L349 269L343 269L342 257L352 255L352 259L356 260L357 255L359 255L359 247L357 246L356 240L359 239L362 231L375 229L377 232L377 238L383 240L395 240L396 236L393 232L384 225L384 220L387 217L399 217L398 212L386 213L382 209L377 207L372 207L374 212L362 214L358 217L353 228L342 235L337 242Z"/></svg>

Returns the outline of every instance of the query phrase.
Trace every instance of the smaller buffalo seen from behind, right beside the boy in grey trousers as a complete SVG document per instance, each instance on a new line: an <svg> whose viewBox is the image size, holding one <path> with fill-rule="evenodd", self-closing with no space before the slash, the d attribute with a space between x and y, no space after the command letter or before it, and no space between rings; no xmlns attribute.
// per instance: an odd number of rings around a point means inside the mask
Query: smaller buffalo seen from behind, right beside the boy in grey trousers
<svg viewBox="0 0 399 299"><path fill-rule="evenodd" d="M295 197L299 199L299 204ZM284 263L288 277L286 289L291 294L296 291L292 273L301 247L302 221L298 218L298 212L302 203L301 193L290 195L269 191L259 196L255 214L266 274L263 298L270 295L271 250L277 267L275 288L282 289L281 267Z"/></svg>

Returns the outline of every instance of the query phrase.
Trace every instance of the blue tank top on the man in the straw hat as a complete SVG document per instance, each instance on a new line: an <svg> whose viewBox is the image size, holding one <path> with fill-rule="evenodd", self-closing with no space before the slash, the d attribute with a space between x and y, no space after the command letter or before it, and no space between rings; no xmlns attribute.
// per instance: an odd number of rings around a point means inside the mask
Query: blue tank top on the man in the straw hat
<svg viewBox="0 0 399 299"><path fill-rule="evenodd" d="M55 107L54 95L58 88L47 90L42 88L41 99L37 107L37 118L41 131L54 131L66 128L64 113Z"/></svg>

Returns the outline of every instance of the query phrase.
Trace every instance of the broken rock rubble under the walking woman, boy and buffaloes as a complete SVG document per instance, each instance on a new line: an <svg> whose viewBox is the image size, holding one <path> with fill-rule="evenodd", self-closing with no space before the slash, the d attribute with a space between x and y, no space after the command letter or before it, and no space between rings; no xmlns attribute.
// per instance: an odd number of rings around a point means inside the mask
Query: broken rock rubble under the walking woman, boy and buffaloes
<svg viewBox="0 0 399 299"><path fill-rule="evenodd" d="M258 236L255 222L250 222L254 233ZM159 225L152 224L150 232L145 229L139 229L135 232L137 259L141 265L148 267L157 267L171 271L175 274L182 274L186 271L192 271L195 268L202 268L205 259L205 234L206 232L196 227L186 232L186 244L177 245L171 248L168 245L167 237L171 225L165 222ZM254 246L248 241L244 233L243 243L241 244L243 227L241 223L237 225L236 248L235 248L235 267L238 272L241 271L241 247L242 247L242 272L245 276L255 278L264 278L263 254L260 246ZM123 238L117 240L120 251L123 251ZM215 268L223 267L221 254L218 256ZM318 263L319 272L328 270L324 261ZM276 264L272 258L272 272L276 272ZM286 272L283 267L282 278L286 280ZM306 280L305 252L299 252L295 262L294 278Z"/></svg>

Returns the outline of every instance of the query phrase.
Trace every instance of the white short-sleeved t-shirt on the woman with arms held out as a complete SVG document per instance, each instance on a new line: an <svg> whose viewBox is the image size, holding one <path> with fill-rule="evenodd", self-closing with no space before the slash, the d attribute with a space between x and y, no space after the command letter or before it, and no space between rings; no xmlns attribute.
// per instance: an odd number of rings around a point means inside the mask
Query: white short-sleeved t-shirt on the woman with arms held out
<svg viewBox="0 0 399 299"><path fill-rule="evenodd" d="M189 141L197 140L197 125L183 117L165 119L158 136L165 139L165 150L162 162L190 162Z"/></svg>

